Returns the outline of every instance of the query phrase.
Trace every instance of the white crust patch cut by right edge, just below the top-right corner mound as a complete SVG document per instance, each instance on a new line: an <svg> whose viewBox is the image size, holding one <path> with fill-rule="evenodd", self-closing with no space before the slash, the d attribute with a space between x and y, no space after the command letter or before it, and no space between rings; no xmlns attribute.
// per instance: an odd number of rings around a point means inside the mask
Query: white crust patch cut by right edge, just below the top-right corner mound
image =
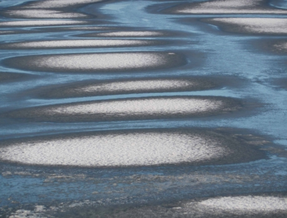
<svg viewBox="0 0 287 218"><path fill-rule="evenodd" d="M254 33L287 33L287 19L284 18L214 18L211 21L218 21L226 24L241 25L243 30Z"/></svg>

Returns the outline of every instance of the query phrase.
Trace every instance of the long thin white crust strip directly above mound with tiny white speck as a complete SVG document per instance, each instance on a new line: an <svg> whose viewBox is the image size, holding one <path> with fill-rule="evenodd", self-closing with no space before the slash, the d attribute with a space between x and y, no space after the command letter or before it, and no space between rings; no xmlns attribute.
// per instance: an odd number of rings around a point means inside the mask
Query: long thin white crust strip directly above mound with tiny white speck
<svg viewBox="0 0 287 218"><path fill-rule="evenodd" d="M101 47L101 46L140 46L151 44L145 40L51 40L11 43L8 47L16 48L57 48L57 47Z"/></svg>

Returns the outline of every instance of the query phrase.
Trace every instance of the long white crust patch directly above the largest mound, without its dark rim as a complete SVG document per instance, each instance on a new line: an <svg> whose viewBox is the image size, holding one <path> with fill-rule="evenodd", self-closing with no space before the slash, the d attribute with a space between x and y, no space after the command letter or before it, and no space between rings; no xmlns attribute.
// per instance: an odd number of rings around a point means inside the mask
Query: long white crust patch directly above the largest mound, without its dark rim
<svg viewBox="0 0 287 218"><path fill-rule="evenodd" d="M121 101L105 101L90 104L77 104L60 106L55 109L46 109L45 113L54 115L174 115L196 114L201 112L216 111L224 103L221 100L206 99L134 99Z"/></svg>

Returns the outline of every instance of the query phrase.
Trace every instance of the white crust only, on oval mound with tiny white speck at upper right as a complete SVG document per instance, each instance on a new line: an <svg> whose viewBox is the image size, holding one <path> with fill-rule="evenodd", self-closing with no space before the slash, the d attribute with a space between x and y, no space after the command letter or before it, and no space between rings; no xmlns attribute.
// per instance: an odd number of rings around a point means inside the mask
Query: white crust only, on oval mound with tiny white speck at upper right
<svg viewBox="0 0 287 218"><path fill-rule="evenodd" d="M104 53L104 54L74 54L52 57L35 57L33 62L37 67L65 68L67 70L112 70L140 69L169 64L166 53Z"/></svg>

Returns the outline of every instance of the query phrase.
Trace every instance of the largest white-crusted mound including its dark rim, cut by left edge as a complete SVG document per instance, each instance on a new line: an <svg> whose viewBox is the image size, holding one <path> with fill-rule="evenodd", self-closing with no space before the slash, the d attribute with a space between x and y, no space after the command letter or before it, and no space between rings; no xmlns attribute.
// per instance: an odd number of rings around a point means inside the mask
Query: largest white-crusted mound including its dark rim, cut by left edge
<svg viewBox="0 0 287 218"><path fill-rule="evenodd" d="M129 129L3 140L0 160L80 167L231 164L266 158L257 146L206 129Z"/></svg>

